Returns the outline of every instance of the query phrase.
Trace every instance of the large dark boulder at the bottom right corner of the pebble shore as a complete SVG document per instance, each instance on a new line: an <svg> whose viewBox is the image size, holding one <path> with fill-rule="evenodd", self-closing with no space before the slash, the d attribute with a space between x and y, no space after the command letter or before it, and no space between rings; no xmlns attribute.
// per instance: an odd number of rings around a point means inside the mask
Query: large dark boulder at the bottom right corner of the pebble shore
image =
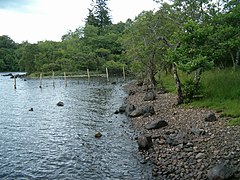
<svg viewBox="0 0 240 180"><path fill-rule="evenodd" d="M227 180L232 178L233 175L233 169L225 164L214 166L212 169L208 170L207 174L209 180Z"/></svg>

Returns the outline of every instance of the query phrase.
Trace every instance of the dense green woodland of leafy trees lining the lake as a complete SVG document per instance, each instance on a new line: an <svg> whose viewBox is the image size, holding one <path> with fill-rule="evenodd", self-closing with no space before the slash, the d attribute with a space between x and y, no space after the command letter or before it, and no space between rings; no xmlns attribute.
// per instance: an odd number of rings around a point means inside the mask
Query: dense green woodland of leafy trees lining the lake
<svg viewBox="0 0 240 180"><path fill-rule="evenodd" d="M179 71L194 74L188 83L197 91L205 70L240 65L239 0L155 1L158 10L117 24L111 21L108 0L92 1L85 25L63 35L61 42L19 44L0 36L0 71L31 74L108 67L118 73L125 67L148 77L153 86L162 72L173 73L182 103Z"/></svg>

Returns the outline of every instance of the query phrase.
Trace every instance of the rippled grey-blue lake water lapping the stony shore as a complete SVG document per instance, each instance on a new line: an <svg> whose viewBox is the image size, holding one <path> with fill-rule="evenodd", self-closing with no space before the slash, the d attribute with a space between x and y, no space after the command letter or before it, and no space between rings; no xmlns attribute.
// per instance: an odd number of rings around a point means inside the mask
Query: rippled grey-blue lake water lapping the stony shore
<svg viewBox="0 0 240 180"><path fill-rule="evenodd" d="M106 79L56 79L55 88L49 79L42 89L17 79L14 90L0 73L0 179L151 179L127 118L114 114L124 96Z"/></svg>

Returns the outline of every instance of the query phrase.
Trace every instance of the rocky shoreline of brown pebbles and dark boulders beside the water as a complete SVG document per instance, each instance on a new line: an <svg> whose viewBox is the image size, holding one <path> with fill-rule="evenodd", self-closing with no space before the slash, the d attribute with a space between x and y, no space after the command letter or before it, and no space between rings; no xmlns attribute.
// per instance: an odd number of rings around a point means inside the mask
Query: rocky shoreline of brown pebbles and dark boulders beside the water
<svg viewBox="0 0 240 180"><path fill-rule="evenodd" d="M207 109L175 106L176 96L130 83L119 111L139 135L139 153L155 179L240 179L240 130ZM124 110L123 110L124 109ZM149 110L149 112L145 112ZM207 119L209 118L209 119Z"/></svg>

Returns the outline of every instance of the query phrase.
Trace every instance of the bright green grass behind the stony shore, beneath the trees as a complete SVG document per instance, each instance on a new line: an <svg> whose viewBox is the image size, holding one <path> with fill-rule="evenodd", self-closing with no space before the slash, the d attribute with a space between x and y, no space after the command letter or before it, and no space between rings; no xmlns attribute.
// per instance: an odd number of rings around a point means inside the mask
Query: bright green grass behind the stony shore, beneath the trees
<svg viewBox="0 0 240 180"><path fill-rule="evenodd" d="M162 76L164 85L175 92L173 77ZM181 74L180 78L187 78ZM171 82L170 82L171 81ZM240 70L212 70L202 74L203 98L190 103L193 107L204 107L221 112L221 116L233 118L229 125L240 125Z"/></svg>

